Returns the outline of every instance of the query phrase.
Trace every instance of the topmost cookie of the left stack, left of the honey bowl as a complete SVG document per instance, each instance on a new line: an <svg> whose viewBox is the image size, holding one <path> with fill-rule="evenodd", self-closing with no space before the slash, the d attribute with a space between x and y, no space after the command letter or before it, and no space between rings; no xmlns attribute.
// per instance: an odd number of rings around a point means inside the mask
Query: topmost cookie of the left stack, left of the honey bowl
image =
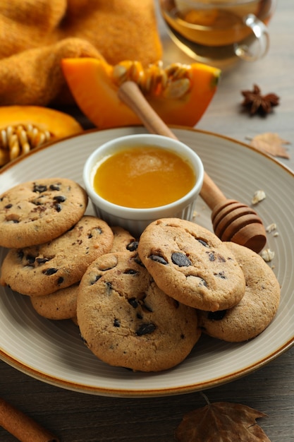
<svg viewBox="0 0 294 442"><path fill-rule="evenodd" d="M0 196L0 246L34 246L59 237L80 220L87 202L85 190L71 179L14 186Z"/></svg>

